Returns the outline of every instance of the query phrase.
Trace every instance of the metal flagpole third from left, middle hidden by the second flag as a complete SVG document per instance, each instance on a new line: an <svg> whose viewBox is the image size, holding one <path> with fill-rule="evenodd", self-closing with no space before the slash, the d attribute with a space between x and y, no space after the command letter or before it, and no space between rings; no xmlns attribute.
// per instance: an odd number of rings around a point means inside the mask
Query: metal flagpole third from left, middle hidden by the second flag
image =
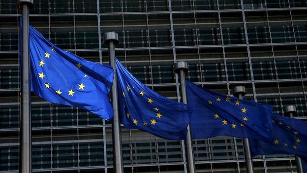
<svg viewBox="0 0 307 173"><path fill-rule="evenodd" d="M175 72L180 75L181 100L182 100L182 103L184 104L187 104L186 88L185 88L185 72L187 71L188 71L188 68L187 68L186 62L180 61L180 62L175 63ZM188 173L195 173L196 171L195 171L195 162L194 162L190 125L187 126L187 135L186 135L184 142L185 142Z"/></svg>

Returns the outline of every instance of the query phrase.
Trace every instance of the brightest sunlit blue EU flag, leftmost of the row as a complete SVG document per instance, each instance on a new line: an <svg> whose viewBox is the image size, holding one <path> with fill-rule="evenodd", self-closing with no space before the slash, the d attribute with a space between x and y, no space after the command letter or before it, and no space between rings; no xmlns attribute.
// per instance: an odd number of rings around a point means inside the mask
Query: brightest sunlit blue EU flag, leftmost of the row
<svg viewBox="0 0 307 173"><path fill-rule="evenodd" d="M113 117L109 101L114 70L61 50L30 26L31 90L55 104Z"/></svg>

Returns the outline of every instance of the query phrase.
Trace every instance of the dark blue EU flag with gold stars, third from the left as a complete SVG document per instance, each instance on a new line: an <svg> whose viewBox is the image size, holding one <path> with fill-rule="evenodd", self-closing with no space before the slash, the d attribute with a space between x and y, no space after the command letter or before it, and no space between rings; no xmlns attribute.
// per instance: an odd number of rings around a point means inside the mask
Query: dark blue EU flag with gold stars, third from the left
<svg viewBox="0 0 307 173"><path fill-rule="evenodd" d="M231 136L271 138L272 107L221 95L186 81L187 104L192 107L193 139Z"/></svg>

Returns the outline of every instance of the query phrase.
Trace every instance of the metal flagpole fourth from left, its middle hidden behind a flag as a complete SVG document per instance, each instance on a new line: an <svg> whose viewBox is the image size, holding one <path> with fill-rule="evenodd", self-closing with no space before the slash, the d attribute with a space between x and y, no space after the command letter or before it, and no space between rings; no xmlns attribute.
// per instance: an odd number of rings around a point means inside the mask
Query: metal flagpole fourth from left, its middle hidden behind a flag
<svg viewBox="0 0 307 173"><path fill-rule="evenodd" d="M234 87L234 96L238 97L239 99L243 99L243 96L246 95L245 86L236 86ZM253 173L253 163L250 154L250 145L248 138L243 138L243 146L244 146L244 156L246 162L246 171L247 173Z"/></svg>

